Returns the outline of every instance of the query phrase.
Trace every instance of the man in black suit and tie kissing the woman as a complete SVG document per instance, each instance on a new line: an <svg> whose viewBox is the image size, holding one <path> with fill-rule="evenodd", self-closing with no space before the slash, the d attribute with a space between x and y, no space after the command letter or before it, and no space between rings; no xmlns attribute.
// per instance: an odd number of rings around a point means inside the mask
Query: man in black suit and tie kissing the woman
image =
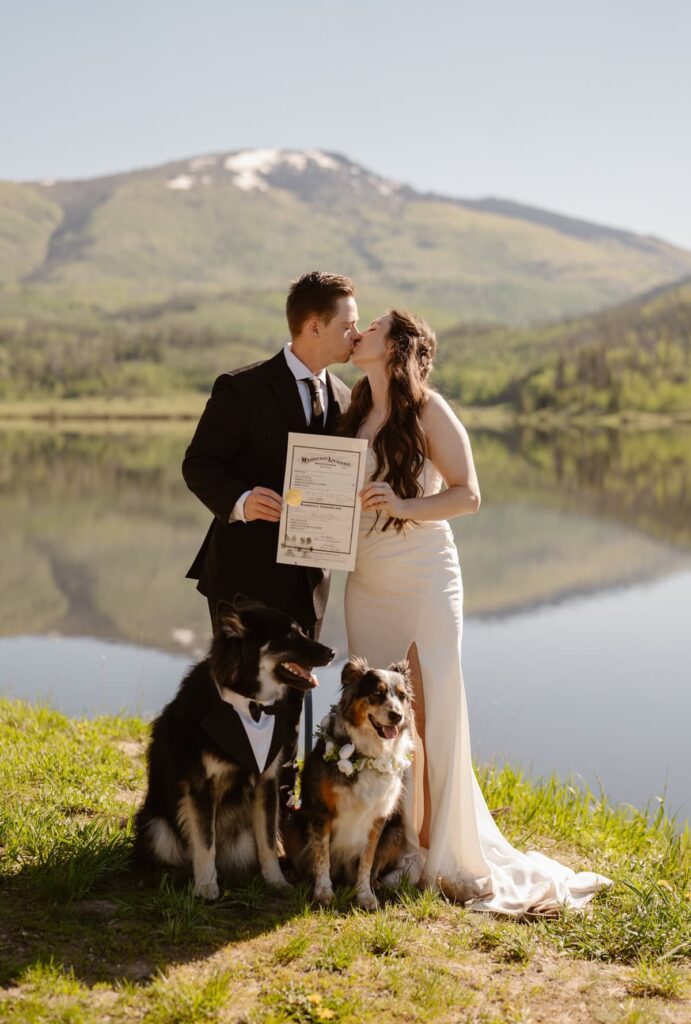
<svg viewBox="0 0 691 1024"><path fill-rule="evenodd" d="M213 386L182 475L214 515L187 572L209 601L214 629L218 602L244 593L287 611L318 639L329 573L276 562L282 490L289 431L333 434L348 408L349 389L326 368L347 362L360 338L354 295L348 278L304 274L286 303L291 342ZM296 699L296 725L300 711Z"/></svg>

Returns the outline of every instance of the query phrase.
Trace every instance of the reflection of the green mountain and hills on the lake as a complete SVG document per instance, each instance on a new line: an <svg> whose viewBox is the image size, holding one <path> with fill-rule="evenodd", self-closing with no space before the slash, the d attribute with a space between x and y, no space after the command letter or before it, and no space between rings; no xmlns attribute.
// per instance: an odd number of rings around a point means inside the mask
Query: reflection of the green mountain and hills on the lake
<svg viewBox="0 0 691 1024"><path fill-rule="evenodd" d="M180 477L188 433L0 432L2 634L204 645L206 607L183 580L209 521ZM478 432L473 445L483 506L454 523L468 615L688 561L691 433Z"/></svg>

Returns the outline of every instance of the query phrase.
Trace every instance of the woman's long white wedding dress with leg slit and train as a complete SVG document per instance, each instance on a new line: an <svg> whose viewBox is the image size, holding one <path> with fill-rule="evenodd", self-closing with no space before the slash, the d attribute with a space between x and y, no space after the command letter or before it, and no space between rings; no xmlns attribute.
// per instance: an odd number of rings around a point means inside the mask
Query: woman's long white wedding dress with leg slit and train
<svg viewBox="0 0 691 1024"><path fill-rule="evenodd" d="M368 471L375 466L368 452ZM440 489L428 459L424 494ZM521 853L502 836L471 762L468 709L461 670L463 583L446 520L420 522L404 534L371 529L362 512L355 569L346 586L351 654L384 668L415 642L425 697L425 743L431 796L430 844L422 881L476 910L521 916L582 907L611 885L594 871L571 868L534 850ZM408 817L422 823L422 744L406 781ZM414 839L414 842L417 842ZM425 851L422 851L425 855Z"/></svg>

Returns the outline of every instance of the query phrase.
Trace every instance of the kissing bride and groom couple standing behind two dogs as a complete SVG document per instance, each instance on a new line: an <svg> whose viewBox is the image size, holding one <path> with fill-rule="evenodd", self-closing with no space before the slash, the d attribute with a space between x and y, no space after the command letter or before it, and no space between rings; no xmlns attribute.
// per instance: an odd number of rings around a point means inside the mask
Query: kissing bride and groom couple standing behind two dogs
<svg viewBox="0 0 691 1024"><path fill-rule="evenodd" d="M283 609L318 639L328 573L275 560L288 434L365 438L346 629L351 654L371 666L402 657L411 666L418 738L404 786L409 877L473 909L512 916L585 906L609 880L513 848L473 771L463 582L448 519L476 512L480 492L468 433L428 383L433 331L397 309L360 331L352 282L319 271L292 285L286 312L291 341L216 380L182 466L214 516L187 573L209 601L212 625L219 602L241 593ZM352 394L326 369L349 360L363 375ZM288 734L301 710L293 690ZM284 794L293 781L288 770Z"/></svg>

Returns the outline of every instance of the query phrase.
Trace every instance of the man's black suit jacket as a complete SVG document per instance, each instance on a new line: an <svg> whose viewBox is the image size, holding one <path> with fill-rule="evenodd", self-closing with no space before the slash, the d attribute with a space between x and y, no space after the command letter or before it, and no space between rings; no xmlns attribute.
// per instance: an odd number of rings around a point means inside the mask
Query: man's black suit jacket
<svg viewBox="0 0 691 1024"><path fill-rule="evenodd" d="M350 390L327 373L329 409L323 433L335 433ZM278 524L228 522L245 490L283 493L289 431L308 427L295 377L283 351L265 362L222 374L182 463L190 490L214 520L187 572L212 606L247 594L292 614L309 628L323 616L329 575L321 569L276 563Z"/></svg>

